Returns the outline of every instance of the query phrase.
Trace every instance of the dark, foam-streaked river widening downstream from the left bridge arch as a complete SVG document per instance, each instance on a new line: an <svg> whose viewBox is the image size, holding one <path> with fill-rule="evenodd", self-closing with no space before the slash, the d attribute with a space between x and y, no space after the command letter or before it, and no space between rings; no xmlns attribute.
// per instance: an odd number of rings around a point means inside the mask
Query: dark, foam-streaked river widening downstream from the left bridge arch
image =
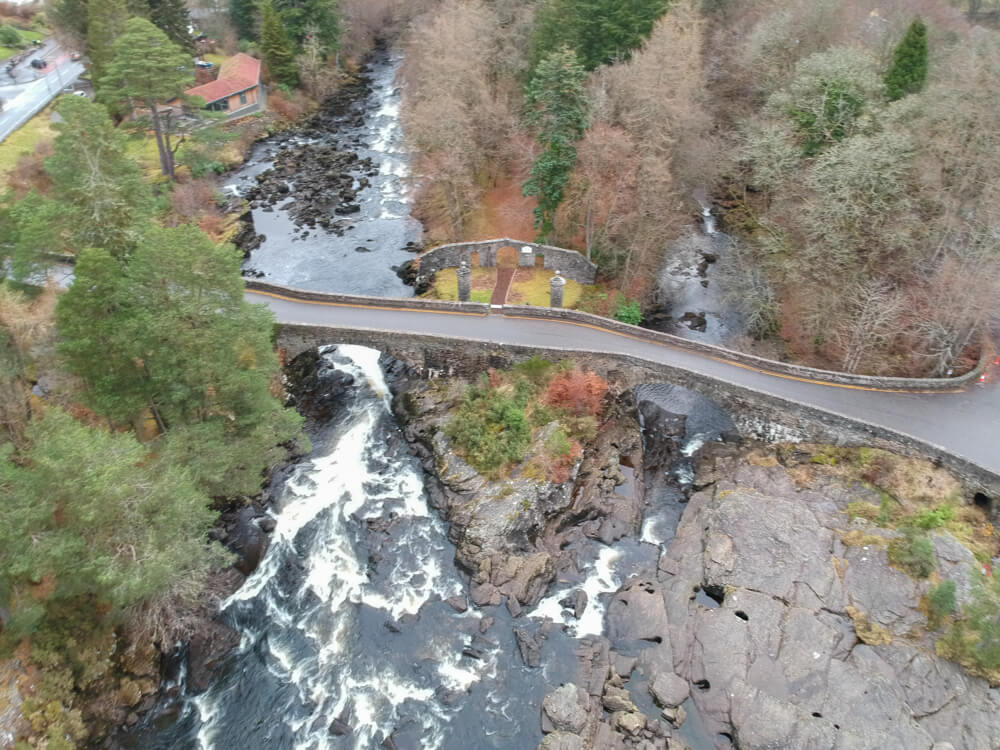
<svg viewBox="0 0 1000 750"><path fill-rule="evenodd" d="M573 641L520 664L512 619L480 635L455 548L389 410L379 353L330 347L353 379L338 416L285 481L260 567L223 605L241 645L209 690L136 733L149 750L534 748L538 706L572 679ZM321 372L320 377L324 376ZM166 725L166 726L165 726Z"/></svg>

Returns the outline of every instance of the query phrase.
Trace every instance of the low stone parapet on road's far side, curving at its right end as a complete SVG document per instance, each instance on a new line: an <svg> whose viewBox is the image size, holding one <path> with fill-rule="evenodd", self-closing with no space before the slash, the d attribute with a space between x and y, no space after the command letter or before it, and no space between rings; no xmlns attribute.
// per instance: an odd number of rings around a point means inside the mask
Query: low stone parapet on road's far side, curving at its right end
<svg viewBox="0 0 1000 750"><path fill-rule="evenodd" d="M511 317L540 318L545 320L563 320L571 323L580 323L596 328L603 328L612 333L620 333L631 338L642 339L655 344L666 344L678 349L707 354L711 357L718 357L736 362L738 364L752 367L764 372L773 372L782 375L792 375L806 380L818 380L824 383L838 383L840 385L856 385L863 388L882 388L899 391L943 391L951 390L959 386L972 382L983 372L986 367L988 355L983 352L977 366L954 378L891 378L878 377L874 375L856 375L847 372L835 372L833 370L820 370L815 367L805 367L803 365L790 364L788 362L778 362L776 360L755 357L752 354L726 349L721 346L705 344L700 341L692 341L680 336L674 336L660 331L651 331L648 328L629 325L613 318L602 318L599 315L580 312L579 310L553 309L549 307L533 307L528 305L504 305L503 314Z"/></svg>

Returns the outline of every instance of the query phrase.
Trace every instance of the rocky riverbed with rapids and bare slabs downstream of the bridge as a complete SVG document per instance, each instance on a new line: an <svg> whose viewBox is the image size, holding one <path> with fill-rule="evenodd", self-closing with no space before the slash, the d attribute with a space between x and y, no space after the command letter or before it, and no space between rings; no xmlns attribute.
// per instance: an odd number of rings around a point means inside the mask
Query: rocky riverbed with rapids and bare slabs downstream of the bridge
<svg viewBox="0 0 1000 750"><path fill-rule="evenodd" d="M834 453L743 444L661 384L607 397L566 481L489 478L442 429L464 385L366 351L289 369L317 449L225 517L250 577L192 641L186 693L122 746L996 746L998 691L934 652L931 580L851 519L882 497ZM906 477L958 488L879 461L904 502ZM931 538L967 599L973 555Z"/></svg>

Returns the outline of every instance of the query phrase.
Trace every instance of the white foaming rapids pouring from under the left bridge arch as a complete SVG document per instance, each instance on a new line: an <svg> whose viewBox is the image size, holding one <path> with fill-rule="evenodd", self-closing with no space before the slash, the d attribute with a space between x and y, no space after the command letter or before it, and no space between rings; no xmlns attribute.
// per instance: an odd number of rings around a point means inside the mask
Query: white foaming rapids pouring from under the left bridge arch
<svg viewBox="0 0 1000 750"><path fill-rule="evenodd" d="M428 510L419 466L388 455L385 432L395 426L379 353L340 346L324 357L353 376L358 394L336 439L327 441L329 452L314 451L286 482L267 555L223 607L241 630L241 652L254 653L254 668L273 682L265 691L273 695L263 699L273 701L274 727L263 735L251 727L242 738L248 742L234 742L232 691L252 687L246 674L223 679L194 699L203 750L350 746L328 729L335 719L350 727L354 747L374 747L414 721L423 747L438 747L449 709L436 691L467 689L494 658L461 660L454 629L424 630L415 655L365 642L391 636L384 623L412 617L463 587L441 523ZM391 519L392 537L373 566L360 542L369 522L383 519Z"/></svg>

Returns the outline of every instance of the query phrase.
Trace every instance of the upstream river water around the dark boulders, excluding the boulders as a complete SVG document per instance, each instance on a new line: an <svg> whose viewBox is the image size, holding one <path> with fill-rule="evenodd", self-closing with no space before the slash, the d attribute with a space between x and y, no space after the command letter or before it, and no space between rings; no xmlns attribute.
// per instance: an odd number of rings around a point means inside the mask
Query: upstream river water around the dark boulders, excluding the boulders
<svg viewBox="0 0 1000 750"><path fill-rule="evenodd" d="M338 117L335 132L318 138L293 134L261 141L247 163L222 180L224 193L243 195L255 184L257 175L271 168L279 149L316 142L333 143L339 150L357 153L362 160L370 158L378 168L377 174L356 175L355 187L362 184L362 177L369 184L358 190L360 211L350 215L351 221L340 236L322 227L296 227L281 205L253 209L254 228L266 239L244 263L246 269L262 273L267 281L301 289L381 297L413 295L413 289L393 271L393 266L414 257L405 247L419 242L423 233L420 222L410 215L409 160L396 83L400 63L401 58L388 51L371 59L365 68L370 93ZM360 125L356 124L359 116ZM294 180L290 187L294 197ZM331 217L344 218L332 213ZM358 252L358 248L366 252Z"/></svg>

